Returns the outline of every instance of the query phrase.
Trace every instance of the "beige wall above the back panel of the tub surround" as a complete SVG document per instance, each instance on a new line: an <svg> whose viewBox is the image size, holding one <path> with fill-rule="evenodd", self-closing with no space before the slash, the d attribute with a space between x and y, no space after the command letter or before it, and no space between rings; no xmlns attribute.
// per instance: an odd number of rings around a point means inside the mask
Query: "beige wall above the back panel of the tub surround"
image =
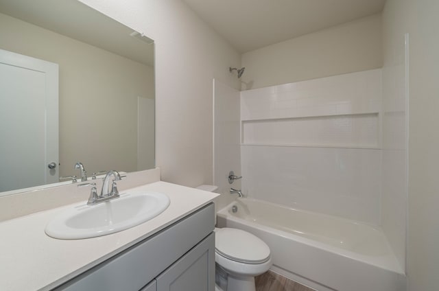
<svg viewBox="0 0 439 291"><path fill-rule="evenodd" d="M243 90L380 68L381 14L249 51L242 66Z"/></svg>

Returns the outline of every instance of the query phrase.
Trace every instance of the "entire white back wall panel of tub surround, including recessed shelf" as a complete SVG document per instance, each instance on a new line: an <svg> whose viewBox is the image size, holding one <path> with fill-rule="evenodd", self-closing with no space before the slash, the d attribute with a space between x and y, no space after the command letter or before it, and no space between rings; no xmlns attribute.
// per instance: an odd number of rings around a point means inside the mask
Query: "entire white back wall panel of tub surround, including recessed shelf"
<svg viewBox="0 0 439 291"><path fill-rule="evenodd" d="M241 92L244 194L380 223L381 69Z"/></svg>

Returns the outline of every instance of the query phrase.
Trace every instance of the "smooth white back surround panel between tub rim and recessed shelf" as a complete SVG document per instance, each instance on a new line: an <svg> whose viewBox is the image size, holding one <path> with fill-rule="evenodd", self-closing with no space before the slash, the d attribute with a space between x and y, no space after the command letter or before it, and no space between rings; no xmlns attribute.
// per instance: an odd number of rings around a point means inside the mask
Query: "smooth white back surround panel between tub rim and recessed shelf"
<svg viewBox="0 0 439 291"><path fill-rule="evenodd" d="M241 155L248 196L379 224L379 150L242 146Z"/></svg>

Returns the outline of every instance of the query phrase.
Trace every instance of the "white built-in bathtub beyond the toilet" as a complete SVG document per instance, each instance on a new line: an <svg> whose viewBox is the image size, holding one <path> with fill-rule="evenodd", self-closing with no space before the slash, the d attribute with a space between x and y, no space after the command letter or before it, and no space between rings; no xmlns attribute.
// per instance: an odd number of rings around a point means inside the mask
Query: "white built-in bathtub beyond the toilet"
<svg viewBox="0 0 439 291"><path fill-rule="evenodd" d="M270 246L274 272L316 290L405 290L403 270L378 226L250 198L218 211L217 226L257 235Z"/></svg>

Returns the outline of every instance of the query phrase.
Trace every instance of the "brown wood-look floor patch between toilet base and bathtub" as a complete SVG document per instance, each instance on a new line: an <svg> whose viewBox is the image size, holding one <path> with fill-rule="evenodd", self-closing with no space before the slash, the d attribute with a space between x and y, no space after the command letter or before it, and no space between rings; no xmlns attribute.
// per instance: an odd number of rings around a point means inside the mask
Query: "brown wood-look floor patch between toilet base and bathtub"
<svg viewBox="0 0 439 291"><path fill-rule="evenodd" d="M254 282L256 291L315 291L271 271L255 277Z"/></svg>

